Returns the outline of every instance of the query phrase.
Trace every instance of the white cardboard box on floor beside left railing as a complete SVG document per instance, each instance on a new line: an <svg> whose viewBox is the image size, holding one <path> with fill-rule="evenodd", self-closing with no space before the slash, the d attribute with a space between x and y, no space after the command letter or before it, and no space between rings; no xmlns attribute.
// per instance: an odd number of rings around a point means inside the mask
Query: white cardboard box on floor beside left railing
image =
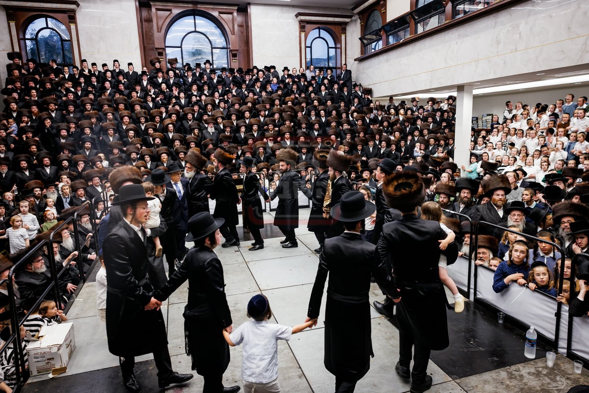
<svg viewBox="0 0 589 393"><path fill-rule="evenodd" d="M31 375L67 366L74 349L74 323L44 326L39 332L39 341L32 341L27 346Z"/></svg>

